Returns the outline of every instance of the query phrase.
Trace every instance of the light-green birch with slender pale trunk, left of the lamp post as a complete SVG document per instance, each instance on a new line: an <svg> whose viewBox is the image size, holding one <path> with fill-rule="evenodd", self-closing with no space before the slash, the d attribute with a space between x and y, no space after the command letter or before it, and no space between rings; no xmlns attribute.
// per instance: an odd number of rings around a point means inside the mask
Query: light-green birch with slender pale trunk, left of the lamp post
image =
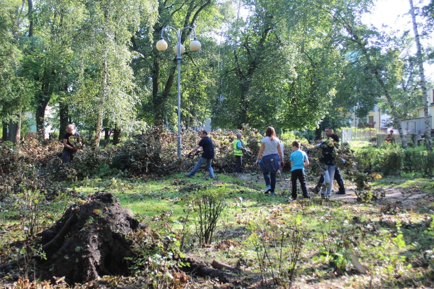
<svg viewBox="0 0 434 289"><path fill-rule="evenodd" d="M133 90L133 73L129 67L132 54L128 49L141 17L149 25L155 21L153 1L86 1L86 21L82 27L83 73L75 84L80 118L94 118L94 143L99 145L102 120L123 127L134 119L137 95ZM78 107L79 106L79 107ZM84 107L87 106L87 107Z"/></svg>

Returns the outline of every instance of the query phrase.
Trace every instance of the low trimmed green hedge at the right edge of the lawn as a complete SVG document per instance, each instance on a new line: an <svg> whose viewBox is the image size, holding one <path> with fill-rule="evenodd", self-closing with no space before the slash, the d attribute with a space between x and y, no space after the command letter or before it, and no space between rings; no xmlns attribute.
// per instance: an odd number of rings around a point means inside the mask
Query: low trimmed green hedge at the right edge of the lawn
<svg viewBox="0 0 434 289"><path fill-rule="evenodd" d="M428 176L434 168L434 152L422 147L407 150L393 145L368 147L357 151L356 156L363 169L385 176L399 175L401 171Z"/></svg>

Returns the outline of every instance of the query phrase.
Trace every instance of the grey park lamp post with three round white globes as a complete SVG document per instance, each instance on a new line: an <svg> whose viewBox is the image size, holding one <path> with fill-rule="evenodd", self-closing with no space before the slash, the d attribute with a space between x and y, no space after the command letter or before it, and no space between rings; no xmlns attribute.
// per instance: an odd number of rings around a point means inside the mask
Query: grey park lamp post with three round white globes
<svg viewBox="0 0 434 289"><path fill-rule="evenodd" d="M194 39L190 42L190 50L192 51L199 51L201 48L201 44L199 40L196 38L196 31L195 28L190 26L185 26L181 30L176 30L175 28L171 26L164 27L161 31L161 37L155 44L158 51L165 51L167 49L167 42L163 38L163 33L168 30L172 29L176 32L178 36L178 40L176 43L176 46L173 48L173 50L176 53L176 62L178 64L178 158L181 157L181 54L184 53L185 47L181 44L181 32L185 29L191 29L193 31Z"/></svg>

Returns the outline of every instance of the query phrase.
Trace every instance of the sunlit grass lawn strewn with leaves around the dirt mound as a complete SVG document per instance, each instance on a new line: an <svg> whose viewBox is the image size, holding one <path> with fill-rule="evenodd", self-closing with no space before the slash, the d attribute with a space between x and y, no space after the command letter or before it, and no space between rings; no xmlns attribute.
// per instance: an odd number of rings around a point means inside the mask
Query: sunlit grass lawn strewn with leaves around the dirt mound
<svg viewBox="0 0 434 289"><path fill-rule="evenodd" d="M276 271L279 261L284 266L288 264L289 236L295 228L303 228L306 232L305 245L301 268L296 277L296 284L301 287L328 287L332 284L366 287L370 282L374 286L386 287L434 285L430 279L434 257L429 259L424 253L432 250L434 244L434 223L432 216L429 216L434 209L432 201L429 201L429 198L432 200L434 188L432 180L401 177L378 179L372 183L373 189L388 191L420 187L423 192L430 193L426 197L428 200L424 199L425 203L422 203L425 206L422 211L400 204L399 200L383 201L382 204L355 203L355 196L350 197L350 200L336 198L329 203L314 196L311 200L287 204L289 192L279 189L284 186L282 180L278 185L278 195L267 196L260 192L263 181L256 174L246 174L242 178L219 174L217 180L210 180L206 173L198 174L193 179L187 179L182 174L158 180L89 179L68 184L76 197L67 194L59 196L49 207L43 208L43 214L48 226L58 219L65 207L79 198L85 199L94 192L107 191L118 197L123 206L131 208L138 219L151 224L153 228L159 227L153 217L169 213L171 230L181 236L183 224L179 220L185 217L185 209L189 204L187 196L202 191L212 193L225 190L227 209L221 214L212 244L199 246L192 220L189 233L184 234L184 250L205 262L218 259L233 266L238 264L250 283L258 282L261 272L258 249L252 238L262 236L260 238L267 244L261 252L267 250L272 256L264 263L264 273L271 278L270 272ZM8 210L0 212L0 230L8 230L2 235L0 247L23 239L19 216L13 203L9 204ZM277 252L279 246L273 245L280 238L286 240L283 256ZM232 242L233 245L222 246L225 242ZM354 252L371 275L358 274L346 259L347 252ZM6 255L0 257L0 260L9 258ZM337 263L341 264L339 270Z"/></svg>

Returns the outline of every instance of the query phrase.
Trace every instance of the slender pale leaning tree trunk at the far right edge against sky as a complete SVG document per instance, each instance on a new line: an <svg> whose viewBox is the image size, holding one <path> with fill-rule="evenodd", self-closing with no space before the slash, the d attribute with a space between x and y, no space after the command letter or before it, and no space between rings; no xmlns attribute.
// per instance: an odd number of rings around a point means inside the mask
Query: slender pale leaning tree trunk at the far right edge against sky
<svg viewBox="0 0 434 289"><path fill-rule="evenodd" d="M425 146L428 151L432 150L431 144L431 118L429 115L429 102L428 96L426 94L426 82L425 82L425 71L423 69L423 58L422 58L422 46L420 44L420 37L416 22L416 14L413 6L413 0L409 0L410 2L410 14L412 15L413 22L413 31L415 33L415 42L416 42L416 60L419 66L419 77L420 77L420 88L422 90L423 97L423 112L425 117Z"/></svg>

